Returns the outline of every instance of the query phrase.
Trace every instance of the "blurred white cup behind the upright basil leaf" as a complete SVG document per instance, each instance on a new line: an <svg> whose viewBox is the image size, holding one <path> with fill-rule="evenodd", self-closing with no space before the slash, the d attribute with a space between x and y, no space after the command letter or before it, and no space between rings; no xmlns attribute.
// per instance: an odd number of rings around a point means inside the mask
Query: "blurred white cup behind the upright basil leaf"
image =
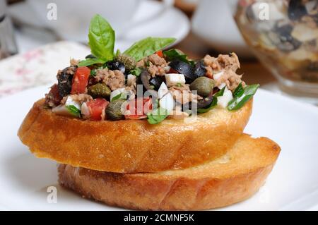
<svg viewBox="0 0 318 225"><path fill-rule="evenodd" d="M94 0L93 4L86 0L77 0L76 4L65 0L28 0L27 3L45 26L66 39L81 41L81 37L86 35L90 18L96 13L107 18L114 30L117 30L117 36L122 36L125 30L159 17L173 4L173 0L164 0L162 11L148 14L144 20L135 20L142 1L147 0ZM53 10L57 13L50 13ZM49 19L52 15L56 16L54 20Z"/></svg>

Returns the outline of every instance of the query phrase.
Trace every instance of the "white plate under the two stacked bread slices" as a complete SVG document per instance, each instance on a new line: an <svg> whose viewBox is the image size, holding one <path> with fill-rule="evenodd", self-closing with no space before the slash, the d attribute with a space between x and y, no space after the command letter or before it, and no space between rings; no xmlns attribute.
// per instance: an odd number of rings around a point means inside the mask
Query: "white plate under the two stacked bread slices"
<svg viewBox="0 0 318 225"><path fill-rule="evenodd" d="M25 114L47 87L0 99L0 209L110 210L59 188L57 166L37 159L16 135ZM228 210L318 209L318 108L259 90L246 133L269 137L282 151L266 185ZM57 203L47 202L47 187L57 187Z"/></svg>

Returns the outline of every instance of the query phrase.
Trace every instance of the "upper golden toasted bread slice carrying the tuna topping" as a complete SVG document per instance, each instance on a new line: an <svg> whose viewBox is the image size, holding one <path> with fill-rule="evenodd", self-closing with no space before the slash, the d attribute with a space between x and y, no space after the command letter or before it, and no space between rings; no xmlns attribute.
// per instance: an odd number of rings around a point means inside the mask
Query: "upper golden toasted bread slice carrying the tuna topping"
<svg viewBox="0 0 318 225"><path fill-rule="evenodd" d="M37 157L98 171L182 169L216 159L242 134L252 101L231 112L213 109L196 121L84 121L58 116L35 102L18 136Z"/></svg>

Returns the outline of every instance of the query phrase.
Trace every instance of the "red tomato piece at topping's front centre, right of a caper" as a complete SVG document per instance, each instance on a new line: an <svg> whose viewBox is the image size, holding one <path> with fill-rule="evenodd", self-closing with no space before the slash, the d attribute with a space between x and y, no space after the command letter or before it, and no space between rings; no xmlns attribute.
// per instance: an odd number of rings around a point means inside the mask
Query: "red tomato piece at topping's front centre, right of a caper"
<svg viewBox="0 0 318 225"><path fill-rule="evenodd" d="M126 115L125 118L140 119L146 118L149 111L153 109L153 101L151 98L147 99L134 99L127 104L126 109L130 112L130 115Z"/></svg>

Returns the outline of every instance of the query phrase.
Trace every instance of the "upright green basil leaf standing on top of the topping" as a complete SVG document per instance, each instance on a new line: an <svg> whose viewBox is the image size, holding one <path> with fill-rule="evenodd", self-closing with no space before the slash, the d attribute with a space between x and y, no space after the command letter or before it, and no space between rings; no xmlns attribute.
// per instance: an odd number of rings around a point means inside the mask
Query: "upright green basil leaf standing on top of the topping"
<svg viewBox="0 0 318 225"><path fill-rule="evenodd" d="M90 20L88 39L90 51L98 59L110 61L114 58L114 30L102 16L96 14Z"/></svg>

